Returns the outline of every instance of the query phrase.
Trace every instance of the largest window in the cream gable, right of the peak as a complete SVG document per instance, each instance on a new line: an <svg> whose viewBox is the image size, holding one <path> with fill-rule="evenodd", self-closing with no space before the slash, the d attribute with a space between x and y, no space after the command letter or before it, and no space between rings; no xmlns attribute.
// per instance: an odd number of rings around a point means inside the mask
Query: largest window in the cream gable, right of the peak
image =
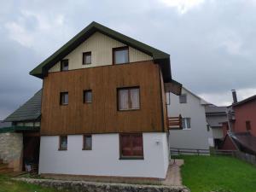
<svg viewBox="0 0 256 192"><path fill-rule="evenodd" d="M128 47L113 48L113 64L129 62Z"/></svg>

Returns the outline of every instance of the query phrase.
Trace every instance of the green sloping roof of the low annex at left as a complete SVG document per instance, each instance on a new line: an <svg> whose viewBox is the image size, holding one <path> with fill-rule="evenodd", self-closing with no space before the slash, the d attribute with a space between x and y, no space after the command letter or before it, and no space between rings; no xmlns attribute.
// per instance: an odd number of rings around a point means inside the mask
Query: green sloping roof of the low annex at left
<svg viewBox="0 0 256 192"><path fill-rule="evenodd" d="M14 122L14 121L24 121L24 120L36 120L40 118L41 115L41 96L42 90L32 96L25 104L20 108L11 113L4 121Z"/></svg>

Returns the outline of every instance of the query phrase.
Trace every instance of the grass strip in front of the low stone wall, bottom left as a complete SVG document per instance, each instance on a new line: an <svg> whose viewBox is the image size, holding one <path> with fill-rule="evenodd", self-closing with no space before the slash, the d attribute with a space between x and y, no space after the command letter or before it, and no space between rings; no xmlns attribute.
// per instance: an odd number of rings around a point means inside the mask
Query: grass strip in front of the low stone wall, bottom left
<svg viewBox="0 0 256 192"><path fill-rule="evenodd" d="M64 192L51 188L40 187L36 184L14 181L10 177L0 175L0 192Z"/></svg>

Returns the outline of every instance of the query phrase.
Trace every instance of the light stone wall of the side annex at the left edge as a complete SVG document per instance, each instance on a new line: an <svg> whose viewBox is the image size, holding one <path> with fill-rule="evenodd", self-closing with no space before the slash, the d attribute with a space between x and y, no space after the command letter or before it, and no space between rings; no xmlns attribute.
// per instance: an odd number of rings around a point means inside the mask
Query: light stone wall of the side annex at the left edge
<svg viewBox="0 0 256 192"><path fill-rule="evenodd" d="M22 133L0 133L0 159L15 171L20 171L22 160Z"/></svg>

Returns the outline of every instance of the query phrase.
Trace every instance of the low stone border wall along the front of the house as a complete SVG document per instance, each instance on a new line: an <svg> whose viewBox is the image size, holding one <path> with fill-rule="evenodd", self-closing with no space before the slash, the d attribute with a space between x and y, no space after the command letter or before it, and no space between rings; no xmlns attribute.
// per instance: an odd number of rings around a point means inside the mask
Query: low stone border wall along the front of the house
<svg viewBox="0 0 256 192"><path fill-rule="evenodd" d="M188 188L183 186L97 183L85 181L35 179L25 177L14 179L26 183L38 184L43 187L51 187L59 190L67 189L72 192L190 192Z"/></svg>

